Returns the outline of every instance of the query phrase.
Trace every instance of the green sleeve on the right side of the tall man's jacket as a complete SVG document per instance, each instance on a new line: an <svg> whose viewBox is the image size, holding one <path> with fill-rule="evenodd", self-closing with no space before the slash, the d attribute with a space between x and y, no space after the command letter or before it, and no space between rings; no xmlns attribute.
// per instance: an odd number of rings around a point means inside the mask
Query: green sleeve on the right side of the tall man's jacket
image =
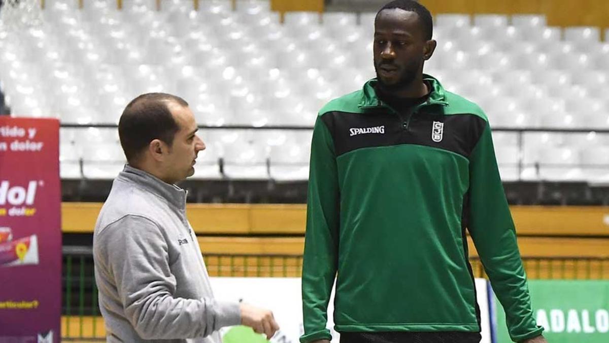
<svg viewBox="0 0 609 343"><path fill-rule="evenodd" d="M529 287L516 243L516 230L499 176L493 139L487 126L470 156L470 223L491 286L505 310L515 342L543 331L533 318Z"/></svg>

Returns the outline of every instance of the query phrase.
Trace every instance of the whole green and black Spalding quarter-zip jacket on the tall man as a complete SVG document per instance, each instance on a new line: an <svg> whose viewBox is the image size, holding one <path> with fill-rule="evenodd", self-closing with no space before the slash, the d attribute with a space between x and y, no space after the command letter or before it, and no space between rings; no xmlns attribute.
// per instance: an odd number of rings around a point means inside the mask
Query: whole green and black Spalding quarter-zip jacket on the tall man
<svg viewBox="0 0 609 343"><path fill-rule="evenodd" d="M541 334L487 117L431 87L398 114L376 80L320 111L311 146L301 342L337 331L480 331L465 229L514 341Z"/></svg>

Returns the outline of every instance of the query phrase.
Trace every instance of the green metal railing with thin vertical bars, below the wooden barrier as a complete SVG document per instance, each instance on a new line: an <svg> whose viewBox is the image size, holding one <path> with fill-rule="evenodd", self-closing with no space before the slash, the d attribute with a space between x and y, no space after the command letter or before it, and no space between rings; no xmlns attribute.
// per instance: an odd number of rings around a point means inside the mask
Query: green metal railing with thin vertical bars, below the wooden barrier
<svg viewBox="0 0 609 343"><path fill-rule="evenodd" d="M210 276L298 277L301 255L207 254ZM523 257L531 279L609 280L609 258ZM474 276L485 277L478 258L470 258ZM65 341L104 341L104 324L97 305L91 247L63 248L63 318Z"/></svg>

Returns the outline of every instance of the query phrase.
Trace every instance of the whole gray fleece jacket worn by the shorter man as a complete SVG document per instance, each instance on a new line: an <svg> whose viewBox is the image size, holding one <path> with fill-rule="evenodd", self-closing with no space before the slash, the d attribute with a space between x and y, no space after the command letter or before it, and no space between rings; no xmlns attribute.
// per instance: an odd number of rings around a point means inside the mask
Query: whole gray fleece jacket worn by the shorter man
<svg viewBox="0 0 609 343"><path fill-rule="evenodd" d="M238 303L214 300L186 191L142 170L114 180L93 258L108 342L220 343L217 330L241 322Z"/></svg>

